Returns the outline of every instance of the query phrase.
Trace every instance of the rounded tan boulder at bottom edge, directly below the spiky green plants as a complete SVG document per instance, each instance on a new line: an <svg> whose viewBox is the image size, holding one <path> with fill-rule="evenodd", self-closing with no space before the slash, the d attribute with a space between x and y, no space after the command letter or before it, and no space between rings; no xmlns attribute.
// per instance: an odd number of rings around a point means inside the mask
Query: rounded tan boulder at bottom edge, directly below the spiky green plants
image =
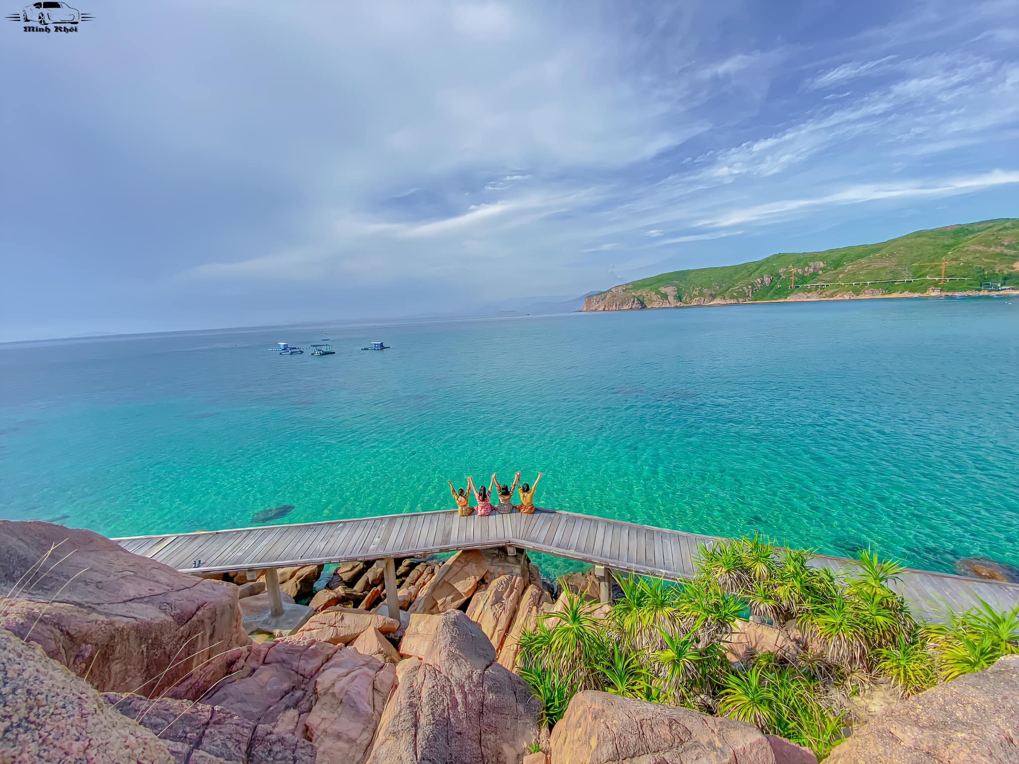
<svg viewBox="0 0 1019 764"><path fill-rule="evenodd" d="M551 747L555 764L775 764L752 724L594 691L573 697Z"/></svg>

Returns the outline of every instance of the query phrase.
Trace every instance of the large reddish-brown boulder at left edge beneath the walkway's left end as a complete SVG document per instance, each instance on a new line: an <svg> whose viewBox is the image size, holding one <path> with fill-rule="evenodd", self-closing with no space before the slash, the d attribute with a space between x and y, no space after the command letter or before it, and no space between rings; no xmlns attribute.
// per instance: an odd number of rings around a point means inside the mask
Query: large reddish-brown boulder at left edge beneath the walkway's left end
<svg viewBox="0 0 1019 764"><path fill-rule="evenodd" d="M79 676L88 672L102 691L129 692L159 678L176 656L182 662L162 676L160 692L181 680L171 696L197 697L225 674L229 655L185 678L187 671L249 643L236 587L177 572L91 531L0 521L0 538L4 593L59 544L39 568L39 582L7 600L0 625Z"/></svg>

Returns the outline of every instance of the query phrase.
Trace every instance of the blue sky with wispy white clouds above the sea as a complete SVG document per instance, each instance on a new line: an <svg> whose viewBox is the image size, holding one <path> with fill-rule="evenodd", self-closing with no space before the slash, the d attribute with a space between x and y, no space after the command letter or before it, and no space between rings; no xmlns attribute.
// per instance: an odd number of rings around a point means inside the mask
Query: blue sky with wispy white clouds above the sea
<svg viewBox="0 0 1019 764"><path fill-rule="evenodd" d="M0 26L4 340L575 295L1019 215L1014 0L73 4L76 34Z"/></svg>

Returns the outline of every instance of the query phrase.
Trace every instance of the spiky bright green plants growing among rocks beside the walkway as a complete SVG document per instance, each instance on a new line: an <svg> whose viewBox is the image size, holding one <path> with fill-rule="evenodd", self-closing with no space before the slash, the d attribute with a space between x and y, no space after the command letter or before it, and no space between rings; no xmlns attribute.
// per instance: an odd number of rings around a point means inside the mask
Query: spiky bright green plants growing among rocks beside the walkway
<svg viewBox="0 0 1019 764"><path fill-rule="evenodd" d="M1019 653L1019 608L981 601L918 622L893 588L902 572L870 550L835 575L757 536L719 541L699 548L690 581L620 579L604 617L566 592L521 636L518 672L550 726L576 693L602 690L756 724L823 758L859 691L888 683L906 698ZM751 615L777 631L776 651L734 649Z"/></svg>

